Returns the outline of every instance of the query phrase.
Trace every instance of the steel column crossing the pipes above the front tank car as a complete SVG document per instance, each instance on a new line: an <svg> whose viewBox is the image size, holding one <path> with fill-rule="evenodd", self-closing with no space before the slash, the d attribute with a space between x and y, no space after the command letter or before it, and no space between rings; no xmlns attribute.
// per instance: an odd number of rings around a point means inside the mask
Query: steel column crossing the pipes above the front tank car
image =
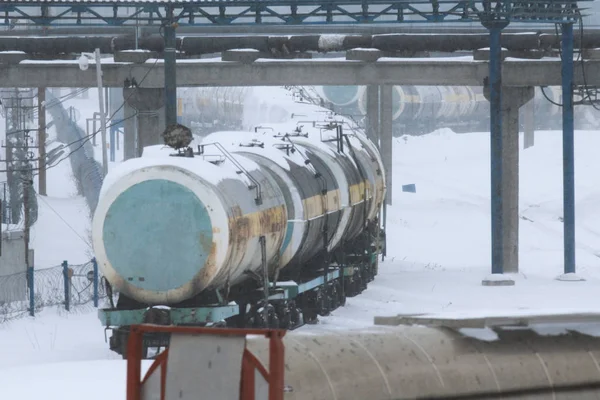
<svg viewBox="0 0 600 400"><path fill-rule="evenodd" d="M177 124L177 76L176 76L176 33L173 9L167 10L168 22L164 25L165 35L165 121L166 126Z"/></svg>

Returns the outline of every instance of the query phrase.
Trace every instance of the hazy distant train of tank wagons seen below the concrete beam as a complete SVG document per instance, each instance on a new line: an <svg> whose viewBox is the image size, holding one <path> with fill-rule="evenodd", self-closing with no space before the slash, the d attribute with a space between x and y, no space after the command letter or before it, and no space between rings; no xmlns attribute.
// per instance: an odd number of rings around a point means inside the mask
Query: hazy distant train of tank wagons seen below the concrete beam
<svg viewBox="0 0 600 400"><path fill-rule="evenodd" d="M366 86L315 86L314 92L323 100L323 105L339 114L354 119L367 114ZM249 88L186 89L180 94L181 101L195 105L184 107L182 121L201 127L198 131L206 134L242 127L249 110L260 112L269 121L282 121L288 117L276 105L257 110L258 106L248 101L250 93ZM545 87L543 91L536 87L534 102L536 129L561 126L560 87ZM261 104L261 107L267 105ZM576 112L581 110L576 108ZM489 115L489 102L483 95L482 86L392 86L394 136L421 135L440 128L451 128L456 132L487 131ZM587 119L577 118L577 121ZM594 120L592 124L595 123Z"/></svg>

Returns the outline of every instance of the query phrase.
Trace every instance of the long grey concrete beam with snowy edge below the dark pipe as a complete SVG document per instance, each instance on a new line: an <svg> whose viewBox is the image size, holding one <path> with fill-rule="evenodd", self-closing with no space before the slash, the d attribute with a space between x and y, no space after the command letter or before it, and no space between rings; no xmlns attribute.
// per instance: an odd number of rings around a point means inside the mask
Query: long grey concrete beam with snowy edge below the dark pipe
<svg viewBox="0 0 600 400"><path fill-rule="evenodd" d="M580 63L575 62L576 85L582 85ZM145 64L102 63L105 87L123 87L135 78L140 87L164 88L162 60ZM586 60L588 85L600 86L600 60ZM401 73L399 73L401 72ZM142 78L148 74L142 81ZM365 63L345 59L258 60L243 64L220 59L179 60L177 86L283 86L283 85L455 85L482 86L488 62L470 57L432 59L379 59ZM510 60L502 64L504 86L560 86L560 59ZM76 61L22 61L0 64L0 87L96 87L93 71L81 71Z"/></svg>

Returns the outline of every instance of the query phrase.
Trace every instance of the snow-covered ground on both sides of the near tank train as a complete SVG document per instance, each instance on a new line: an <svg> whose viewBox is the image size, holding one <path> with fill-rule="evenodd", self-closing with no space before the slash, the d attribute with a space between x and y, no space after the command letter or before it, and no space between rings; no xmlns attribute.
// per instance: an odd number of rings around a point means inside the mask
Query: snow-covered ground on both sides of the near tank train
<svg viewBox="0 0 600 400"><path fill-rule="evenodd" d="M520 273L513 276L515 286L485 287L489 135L443 129L394 139L394 204L388 209L388 257L380 274L344 308L300 332L363 329L373 326L374 316L399 313L600 309L599 133L576 133L577 267L586 281L555 280L563 272L560 132L537 132L535 146L520 151ZM40 202L33 236L37 264L53 266L66 257L87 261L87 210L73 197L68 163L49 172L49 179L52 189ZM408 183L416 184L416 193L401 191ZM92 307L70 314L46 309L35 319L0 325L0 342L6 398L38 400L42 390L62 399L125 398L125 364L108 350Z"/></svg>

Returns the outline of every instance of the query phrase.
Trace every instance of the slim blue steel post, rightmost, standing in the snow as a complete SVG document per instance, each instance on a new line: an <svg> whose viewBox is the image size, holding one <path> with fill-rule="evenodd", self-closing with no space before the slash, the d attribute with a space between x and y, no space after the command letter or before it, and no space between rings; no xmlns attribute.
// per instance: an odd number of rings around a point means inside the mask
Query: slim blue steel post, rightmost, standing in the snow
<svg viewBox="0 0 600 400"><path fill-rule="evenodd" d="M575 273L573 24L562 24L563 218L565 274Z"/></svg>

